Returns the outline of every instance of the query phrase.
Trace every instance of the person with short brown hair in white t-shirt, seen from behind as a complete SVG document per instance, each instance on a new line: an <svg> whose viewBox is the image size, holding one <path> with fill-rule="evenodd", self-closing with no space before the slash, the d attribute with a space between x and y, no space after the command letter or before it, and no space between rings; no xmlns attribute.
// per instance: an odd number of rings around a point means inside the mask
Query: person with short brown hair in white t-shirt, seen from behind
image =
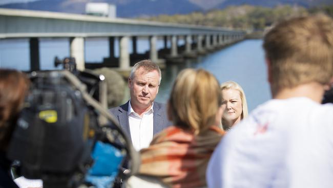
<svg viewBox="0 0 333 188"><path fill-rule="evenodd" d="M320 104L333 81L333 20L281 22L264 37L273 99L219 143L209 187L333 187L333 105Z"/></svg>

